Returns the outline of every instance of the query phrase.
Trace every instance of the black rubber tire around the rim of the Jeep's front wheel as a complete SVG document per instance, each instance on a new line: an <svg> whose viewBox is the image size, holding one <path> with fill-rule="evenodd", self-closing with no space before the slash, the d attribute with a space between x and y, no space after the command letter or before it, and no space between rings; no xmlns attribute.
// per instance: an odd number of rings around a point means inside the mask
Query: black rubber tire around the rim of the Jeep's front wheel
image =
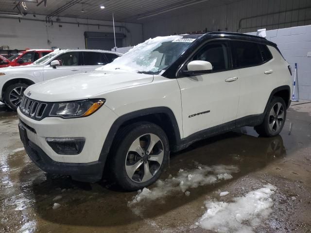
<svg viewBox="0 0 311 233"><path fill-rule="evenodd" d="M130 178L125 168L126 164L128 164L127 156L128 154L130 154L128 151L131 145L134 143L134 141L136 141L136 139L141 138L143 137L144 134L148 134L148 133L155 134L161 141L161 144L159 145L163 146L162 148L164 152L162 164L157 165L158 167L156 168L156 172L150 180L146 182L142 182L142 181L135 182L132 180L134 176ZM109 154L109 160L108 160L109 173L110 173L109 175L111 176L110 178L112 178L113 181L115 181L123 190L126 190L126 191L136 191L136 190L142 189L154 183L161 175L169 159L169 141L164 131L158 125L155 125L153 123L138 122L138 123L125 126L121 130L119 130L115 138L116 140L114 141L112 145L111 152ZM145 153L147 152L146 150L144 151ZM147 156L147 153L145 154L145 156ZM139 157L138 155L136 155L136 157L137 157L136 161L142 160L141 157ZM149 159L147 160L149 161ZM147 161L147 166L148 166L148 161ZM136 162L134 162L133 164L135 163ZM144 166L145 163L146 162L144 162L141 166ZM149 164L151 163L153 162L149 161ZM139 166L138 169L141 169L142 171L142 168L144 167L141 167L141 166ZM137 173L137 171L135 173Z"/></svg>

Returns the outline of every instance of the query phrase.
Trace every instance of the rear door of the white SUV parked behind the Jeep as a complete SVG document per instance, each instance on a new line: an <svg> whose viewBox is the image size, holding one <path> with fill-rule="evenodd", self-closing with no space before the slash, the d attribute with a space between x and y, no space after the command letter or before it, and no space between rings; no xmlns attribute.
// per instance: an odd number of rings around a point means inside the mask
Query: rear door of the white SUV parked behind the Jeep
<svg viewBox="0 0 311 233"><path fill-rule="evenodd" d="M94 71L96 68L102 67L108 63L103 52L83 52L83 60L83 73Z"/></svg>

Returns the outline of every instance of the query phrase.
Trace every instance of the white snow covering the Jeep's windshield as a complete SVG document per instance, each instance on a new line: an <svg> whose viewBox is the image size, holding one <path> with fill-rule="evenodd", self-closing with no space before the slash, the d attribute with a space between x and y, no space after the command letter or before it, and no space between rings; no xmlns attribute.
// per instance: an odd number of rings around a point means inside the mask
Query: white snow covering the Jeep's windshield
<svg viewBox="0 0 311 233"><path fill-rule="evenodd" d="M132 72L137 71L157 71L155 68L156 56L152 52L161 46L163 42L173 41L182 38L182 36L157 36L153 39L134 46L131 50L123 56L116 58L112 63L109 63L96 70L116 71L127 70Z"/></svg>

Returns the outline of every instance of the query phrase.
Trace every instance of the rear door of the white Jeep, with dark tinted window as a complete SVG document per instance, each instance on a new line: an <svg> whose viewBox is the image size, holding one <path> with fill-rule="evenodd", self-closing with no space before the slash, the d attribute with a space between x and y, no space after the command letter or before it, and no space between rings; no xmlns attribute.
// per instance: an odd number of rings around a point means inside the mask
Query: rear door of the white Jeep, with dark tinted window
<svg viewBox="0 0 311 233"><path fill-rule="evenodd" d="M233 66L239 71L241 83L237 118L263 113L271 93L272 55L266 45L232 41Z"/></svg>

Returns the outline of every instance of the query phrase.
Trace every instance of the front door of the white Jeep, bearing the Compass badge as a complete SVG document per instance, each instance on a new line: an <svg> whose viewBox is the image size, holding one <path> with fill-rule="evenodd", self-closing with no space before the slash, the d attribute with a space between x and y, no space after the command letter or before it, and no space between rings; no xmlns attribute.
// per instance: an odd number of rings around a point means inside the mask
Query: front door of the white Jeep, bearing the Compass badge
<svg viewBox="0 0 311 233"><path fill-rule="evenodd" d="M190 59L194 60L210 62L213 70L204 75L177 78L184 138L224 123L233 128L239 104L239 72L230 70L232 63L227 41L207 43ZM187 64L182 69L187 70Z"/></svg>

